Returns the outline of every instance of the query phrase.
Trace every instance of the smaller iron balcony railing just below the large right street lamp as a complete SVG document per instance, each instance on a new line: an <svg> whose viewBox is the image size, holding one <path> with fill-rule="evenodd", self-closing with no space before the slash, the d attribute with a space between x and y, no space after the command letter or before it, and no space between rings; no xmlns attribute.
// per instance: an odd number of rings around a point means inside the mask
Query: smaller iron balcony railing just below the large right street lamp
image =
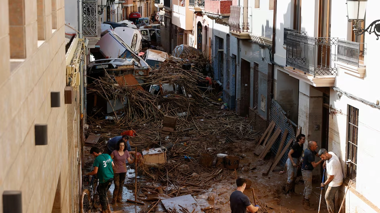
<svg viewBox="0 0 380 213"><path fill-rule="evenodd" d="M356 67L364 65L365 43L338 40L337 61Z"/></svg>

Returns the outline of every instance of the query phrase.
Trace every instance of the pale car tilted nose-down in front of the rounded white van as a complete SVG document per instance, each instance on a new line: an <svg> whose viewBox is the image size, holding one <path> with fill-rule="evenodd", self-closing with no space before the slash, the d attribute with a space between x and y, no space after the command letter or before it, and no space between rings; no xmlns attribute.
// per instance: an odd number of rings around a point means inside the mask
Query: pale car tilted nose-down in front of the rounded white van
<svg viewBox="0 0 380 213"><path fill-rule="evenodd" d="M96 45L99 49L91 49L96 59L102 58L133 58L140 63L142 69L150 69L149 65L126 44L120 36L112 30L104 31Z"/></svg>

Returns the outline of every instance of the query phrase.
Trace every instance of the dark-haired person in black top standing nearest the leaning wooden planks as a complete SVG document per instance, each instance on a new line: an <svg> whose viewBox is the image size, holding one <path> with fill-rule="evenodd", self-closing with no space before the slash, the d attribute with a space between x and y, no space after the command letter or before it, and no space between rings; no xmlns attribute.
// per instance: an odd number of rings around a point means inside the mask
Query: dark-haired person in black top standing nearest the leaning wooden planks
<svg viewBox="0 0 380 213"><path fill-rule="evenodd" d="M302 151L304 150L304 143L306 141L304 134L299 134L296 138L297 143L291 147L288 153L288 160L286 161L288 180L285 186L286 195L285 197L291 198L290 192L294 191L295 180L297 178L298 171L298 161L301 157Z"/></svg>

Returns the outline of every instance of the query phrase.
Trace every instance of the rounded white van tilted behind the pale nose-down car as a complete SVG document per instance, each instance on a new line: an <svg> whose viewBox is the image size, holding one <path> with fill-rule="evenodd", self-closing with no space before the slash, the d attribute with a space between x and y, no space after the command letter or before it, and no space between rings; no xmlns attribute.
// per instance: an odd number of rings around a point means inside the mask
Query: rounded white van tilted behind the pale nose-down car
<svg viewBox="0 0 380 213"><path fill-rule="evenodd" d="M140 31L129 27L115 27L114 32L120 36L120 38L128 44L135 53L141 51L142 36Z"/></svg>

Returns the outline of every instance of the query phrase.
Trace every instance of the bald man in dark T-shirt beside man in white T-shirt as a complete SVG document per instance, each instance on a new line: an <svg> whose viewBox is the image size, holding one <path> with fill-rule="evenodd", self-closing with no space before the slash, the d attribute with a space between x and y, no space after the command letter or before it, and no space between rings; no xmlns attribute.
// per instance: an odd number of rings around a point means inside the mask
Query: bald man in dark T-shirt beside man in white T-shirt
<svg viewBox="0 0 380 213"><path fill-rule="evenodd" d="M322 160L315 163L315 156L319 157L316 152L318 145L315 141L309 141L307 149L305 149L302 154L302 178L304 179L305 189L304 189L304 209L315 210L315 208L310 207L310 194L313 191L312 179L313 179L313 169L322 163Z"/></svg>

